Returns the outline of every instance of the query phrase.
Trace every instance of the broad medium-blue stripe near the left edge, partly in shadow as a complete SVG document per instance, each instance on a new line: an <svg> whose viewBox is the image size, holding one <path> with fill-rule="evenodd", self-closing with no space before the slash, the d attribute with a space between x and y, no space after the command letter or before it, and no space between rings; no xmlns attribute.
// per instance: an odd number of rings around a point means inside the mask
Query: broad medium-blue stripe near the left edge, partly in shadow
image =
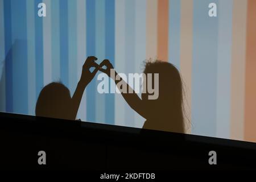
<svg viewBox="0 0 256 182"><path fill-rule="evenodd" d="M26 2L11 1L13 40L13 111L28 114Z"/></svg>

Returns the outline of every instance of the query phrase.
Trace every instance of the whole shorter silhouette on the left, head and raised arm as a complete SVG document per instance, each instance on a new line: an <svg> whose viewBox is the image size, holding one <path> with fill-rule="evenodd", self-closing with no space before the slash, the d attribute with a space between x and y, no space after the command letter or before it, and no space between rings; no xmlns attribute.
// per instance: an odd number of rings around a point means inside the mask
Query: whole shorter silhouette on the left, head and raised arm
<svg viewBox="0 0 256 182"><path fill-rule="evenodd" d="M73 97L69 89L61 83L52 82L44 86L36 102L36 116L75 120L85 87L98 71L96 60L97 57L94 56L86 59ZM92 73L89 70L91 67L95 67Z"/></svg>

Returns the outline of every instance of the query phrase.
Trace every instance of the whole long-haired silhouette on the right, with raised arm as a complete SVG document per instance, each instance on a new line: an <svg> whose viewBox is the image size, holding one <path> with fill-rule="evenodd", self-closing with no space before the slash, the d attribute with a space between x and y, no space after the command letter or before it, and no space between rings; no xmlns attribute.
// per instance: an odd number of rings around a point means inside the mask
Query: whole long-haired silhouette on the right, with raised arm
<svg viewBox="0 0 256 182"><path fill-rule="evenodd" d="M102 68L104 66L106 69ZM99 69L111 77L110 70L114 68L109 60L104 60ZM118 73L114 73L115 84L122 81L118 85L126 84L125 88L131 89L122 79L115 79ZM184 133L183 89L179 71L171 63L156 60L146 63L144 73L159 73L159 97L156 100L148 100L147 90L142 93L142 99L135 92L121 92L127 104L146 119L143 129ZM154 85L154 79L152 81Z"/></svg>

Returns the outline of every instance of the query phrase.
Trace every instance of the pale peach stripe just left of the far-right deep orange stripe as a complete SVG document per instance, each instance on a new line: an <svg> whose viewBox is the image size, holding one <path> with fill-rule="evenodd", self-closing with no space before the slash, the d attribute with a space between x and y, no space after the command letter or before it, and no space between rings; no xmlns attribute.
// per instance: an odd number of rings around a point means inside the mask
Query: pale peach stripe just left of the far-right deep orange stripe
<svg viewBox="0 0 256 182"><path fill-rule="evenodd" d="M243 140L247 1L233 1L230 139Z"/></svg>

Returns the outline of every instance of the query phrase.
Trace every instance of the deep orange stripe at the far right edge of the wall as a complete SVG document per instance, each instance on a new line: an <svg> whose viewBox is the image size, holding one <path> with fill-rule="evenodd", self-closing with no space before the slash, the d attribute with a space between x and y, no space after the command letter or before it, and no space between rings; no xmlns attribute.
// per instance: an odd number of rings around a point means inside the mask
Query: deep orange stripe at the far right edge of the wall
<svg viewBox="0 0 256 182"><path fill-rule="evenodd" d="M256 142L256 1L247 6L245 140Z"/></svg>

